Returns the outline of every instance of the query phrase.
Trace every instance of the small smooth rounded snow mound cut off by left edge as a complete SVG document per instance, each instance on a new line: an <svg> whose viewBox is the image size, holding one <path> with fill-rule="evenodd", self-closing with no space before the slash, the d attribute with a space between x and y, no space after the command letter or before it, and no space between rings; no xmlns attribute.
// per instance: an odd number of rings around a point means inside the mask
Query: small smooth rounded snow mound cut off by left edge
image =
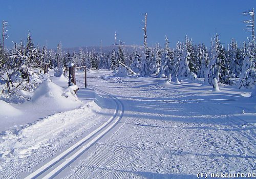
<svg viewBox="0 0 256 179"><path fill-rule="evenodd" d="M0 119L2 117L13 117L22 114L22 112L15 107L11 106L11 104L0 100Z"/></svg>

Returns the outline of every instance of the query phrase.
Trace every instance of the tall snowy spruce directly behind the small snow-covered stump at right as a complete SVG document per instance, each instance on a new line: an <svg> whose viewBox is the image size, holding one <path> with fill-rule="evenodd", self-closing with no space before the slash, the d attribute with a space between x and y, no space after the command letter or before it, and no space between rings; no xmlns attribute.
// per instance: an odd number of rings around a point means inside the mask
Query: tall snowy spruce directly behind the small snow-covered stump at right
<svg viewBox="0 0 256 179"><path fill-rule="evenodd" d="M212 85L214 78L216 78L217 82L221 77L221 64L219 59L219 39L218 36L215 36L214 41L211 41L211 50L210 50L210 63L207 71L205 72L204 81L206 84Z"/></svg>

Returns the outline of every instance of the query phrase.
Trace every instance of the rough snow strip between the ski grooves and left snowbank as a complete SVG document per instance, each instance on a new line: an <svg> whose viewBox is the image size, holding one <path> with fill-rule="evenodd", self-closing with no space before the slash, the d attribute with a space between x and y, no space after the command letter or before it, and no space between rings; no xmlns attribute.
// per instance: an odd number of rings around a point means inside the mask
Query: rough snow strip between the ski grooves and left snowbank
<svg viewBox="0 0 256 179"><path fill-rule="evenodd" d="M1 145L13 149L6 149L6 155L0 159L0 178L24 178L22 172L33 170L65 150L83 135L90 133L102 119L102 116L84 106L49 116L23 129L6 131L2 135L4 140Z"/></svg>

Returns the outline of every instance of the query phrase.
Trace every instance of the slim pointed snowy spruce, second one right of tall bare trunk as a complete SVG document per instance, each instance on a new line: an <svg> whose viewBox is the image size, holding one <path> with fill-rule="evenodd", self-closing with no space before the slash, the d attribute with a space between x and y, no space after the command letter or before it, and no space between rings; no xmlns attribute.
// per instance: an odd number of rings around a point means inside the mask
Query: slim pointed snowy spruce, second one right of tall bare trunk
<svg viewBox="0 0 256 179"><path fill-rule="evenodd" d="M168 38L167 35L165 35L165 47L161 57L159 76L168 76L170 73L172 73L173 66L171 66L170 49L168 44Z"/></svg>

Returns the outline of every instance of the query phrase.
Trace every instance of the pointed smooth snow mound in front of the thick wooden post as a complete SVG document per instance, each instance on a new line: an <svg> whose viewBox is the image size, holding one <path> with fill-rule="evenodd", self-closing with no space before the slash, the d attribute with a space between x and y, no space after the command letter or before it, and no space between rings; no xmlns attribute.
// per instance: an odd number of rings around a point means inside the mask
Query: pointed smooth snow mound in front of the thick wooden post
<svg viewBox="0 0 256 179"><path fill-rule="evenodd" d="M27 105L33 105L34 108L43 107L45 110L62 110L79 107L82 102L78 100L74 93L76 89L78 89L76 85L62 88L51 82L50 79L47 79L35 89L31 100L26 103Z"/></svg>

